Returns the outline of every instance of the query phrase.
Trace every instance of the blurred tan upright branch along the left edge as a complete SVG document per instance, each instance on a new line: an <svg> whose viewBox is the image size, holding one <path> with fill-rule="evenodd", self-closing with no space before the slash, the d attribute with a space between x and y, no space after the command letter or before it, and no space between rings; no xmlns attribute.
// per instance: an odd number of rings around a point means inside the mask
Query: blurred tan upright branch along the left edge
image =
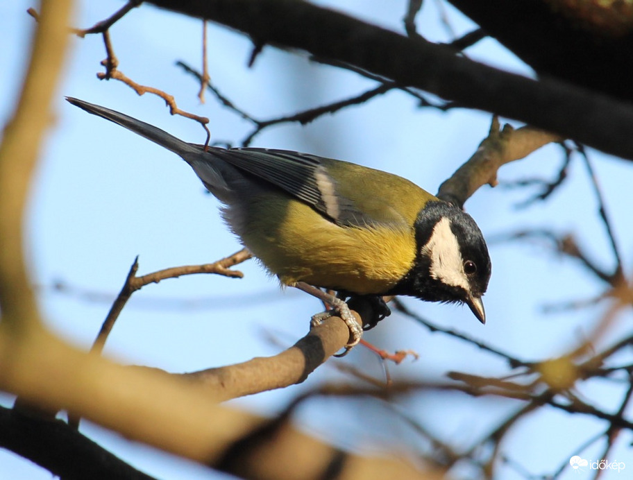
<svg viewBox="0 0 633 480"><path fill-rule="evenodd" d="M40 145L53 119L51 103L66 56L71 10L69 0L42 5L22 92L0 145L0 390L16 380L19 357L44 330L26 266L24 218ZM19 397L16 405L39 411Z"/></svg>

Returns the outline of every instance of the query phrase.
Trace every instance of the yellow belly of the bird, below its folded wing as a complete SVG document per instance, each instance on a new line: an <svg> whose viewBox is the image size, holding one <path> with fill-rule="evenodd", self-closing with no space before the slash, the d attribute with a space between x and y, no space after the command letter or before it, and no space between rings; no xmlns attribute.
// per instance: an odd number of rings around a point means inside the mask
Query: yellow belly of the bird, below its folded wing
<svg viewBox="0 0 633 480"><path fill-rule="evenodd" d="M340 227L285 196L253 202L233 230L283 284L307 282L352 293L385 293L410 270L410 225ZM272 213L271 213L272 212Z"/></svg>

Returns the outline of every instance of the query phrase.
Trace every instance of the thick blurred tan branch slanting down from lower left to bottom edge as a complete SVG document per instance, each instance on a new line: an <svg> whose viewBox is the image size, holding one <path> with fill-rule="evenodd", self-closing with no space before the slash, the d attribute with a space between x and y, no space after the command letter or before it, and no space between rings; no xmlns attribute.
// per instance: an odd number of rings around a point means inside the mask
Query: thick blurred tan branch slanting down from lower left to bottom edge
<svg viewBox="0 0 633 480"><path fill-rule="evenodd" d="M339 323L345 330L344 345L348 331L342 320ZM5 339L1 338L0 347L6 345ZM129 440L237 477L323 478L318 475L328 470L333 458L339 458L341 477L352 480L440 478L404 461L341 451L299 433L287 422L278 425L275 419L219 406L210 401L207 388L194 382L119 366L70 348L48 334L33 337L24 347L15 354L12 377L7 379L6 368L0 371L3 390L47 409L74 411ZM268 435L260 437L267 427ZM239 447L240 461L229 462L227 452L235 452L235 447Z"/></svg>

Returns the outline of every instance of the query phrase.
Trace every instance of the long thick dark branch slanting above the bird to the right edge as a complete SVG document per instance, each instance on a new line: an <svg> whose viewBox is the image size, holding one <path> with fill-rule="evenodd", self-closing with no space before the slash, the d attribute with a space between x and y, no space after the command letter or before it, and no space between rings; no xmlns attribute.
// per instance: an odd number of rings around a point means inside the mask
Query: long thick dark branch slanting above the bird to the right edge
<svg viewBox="0 0 633 480"><path fill-rule="evenodd" d="M450 98L467 108L517 119L560 138L571 137L606 153L633 158L631 105L571 83L509 74L459 57L447 46L404 37L307 2L151 3L235 28L249 35L255 44L301 49L318 58L345 62L398 85Z"/></svg>

